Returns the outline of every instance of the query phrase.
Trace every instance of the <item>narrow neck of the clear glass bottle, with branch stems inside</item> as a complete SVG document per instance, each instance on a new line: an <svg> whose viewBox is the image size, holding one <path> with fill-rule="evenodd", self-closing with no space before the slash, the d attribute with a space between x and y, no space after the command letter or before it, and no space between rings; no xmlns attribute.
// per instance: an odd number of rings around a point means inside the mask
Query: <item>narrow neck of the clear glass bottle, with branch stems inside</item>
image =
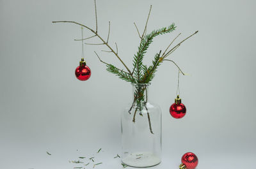
<svg viewBox="0 0 256 169"><path fill-rule="evenodd" d="M132 105L143 108L148 102L148 86L150 84L132 84Z"/></svg>

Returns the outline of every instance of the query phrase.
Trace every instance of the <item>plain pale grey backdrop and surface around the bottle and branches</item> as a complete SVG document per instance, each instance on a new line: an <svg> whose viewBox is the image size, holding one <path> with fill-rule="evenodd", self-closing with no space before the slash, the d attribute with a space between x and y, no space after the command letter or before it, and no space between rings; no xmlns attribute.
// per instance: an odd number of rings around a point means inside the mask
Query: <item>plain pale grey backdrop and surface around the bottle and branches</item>
<svg viewBox="0 0 256 169"><path fill-rule="evenodd" d="M255 1L97 1L99 34L131 68L150 4L148 32L175 22L177 30L157 37L150 63L177 34L199 31L170 56L190 76L180 77L187 115L173 119L177 68L165 62L150 86L150 99L163 112L163 163L178 168L192 151L200 168L253 168L255 161ZM132 99L131 84L106 72L104 61L122 68L105 47L86 46L92 77L79 82L81 29L95 27L92 0L0 0L0 168L73 168L68 160L95 156L97 168L122 168L120 112ZM90 32L84 34L90 36ZM89 42L89 41L88 41ZM90 42L97 42L91 40ZM178 41L177 41L178 42ZM103 152L95 154L99 148ZM52 155L46 154L49 151ZM96 159L97 158L97 159ZM92 168L87 166L86 168Z"/></svg>

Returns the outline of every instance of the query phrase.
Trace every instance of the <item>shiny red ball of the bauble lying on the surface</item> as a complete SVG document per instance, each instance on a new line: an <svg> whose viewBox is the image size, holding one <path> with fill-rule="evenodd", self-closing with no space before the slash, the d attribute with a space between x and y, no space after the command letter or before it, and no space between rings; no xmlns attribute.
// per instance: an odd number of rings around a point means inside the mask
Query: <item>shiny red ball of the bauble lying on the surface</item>
<svg viewBox="0 0 256 169"><path fill-rule="evenodd" d="M181 163L188 169L194 169L198 165L198 158L193 152L187 152L182 156Z"/></svg>

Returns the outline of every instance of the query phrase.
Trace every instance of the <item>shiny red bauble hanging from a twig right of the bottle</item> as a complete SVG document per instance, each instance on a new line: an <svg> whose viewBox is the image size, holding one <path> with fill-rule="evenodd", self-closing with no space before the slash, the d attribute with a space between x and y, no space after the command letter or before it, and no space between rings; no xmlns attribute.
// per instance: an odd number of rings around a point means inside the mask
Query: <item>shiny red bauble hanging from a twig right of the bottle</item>
<svg viewBox="0 0 256 169"><path fill-rule="evenodd" d="M175 103L173 103L170 107L170 114L175 119L180 119L184 117L184 115L186 115L186 107L181 103L179 95L177 96L177 98L175 98Z"/></svg>

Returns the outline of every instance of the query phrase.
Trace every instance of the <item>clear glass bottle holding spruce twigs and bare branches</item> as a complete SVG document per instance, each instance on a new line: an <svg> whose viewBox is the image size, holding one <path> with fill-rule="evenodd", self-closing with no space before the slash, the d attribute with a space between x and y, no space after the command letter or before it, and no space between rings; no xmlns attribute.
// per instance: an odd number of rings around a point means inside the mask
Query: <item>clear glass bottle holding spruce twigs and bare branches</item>
<svg viewBox="0 0 256 169"><path fill-rule="evenodd" d="M132 84L132 103L122 112L122 162L128 166L161 163L162 114L158 105L148 102L149 85Z"/></svg>

